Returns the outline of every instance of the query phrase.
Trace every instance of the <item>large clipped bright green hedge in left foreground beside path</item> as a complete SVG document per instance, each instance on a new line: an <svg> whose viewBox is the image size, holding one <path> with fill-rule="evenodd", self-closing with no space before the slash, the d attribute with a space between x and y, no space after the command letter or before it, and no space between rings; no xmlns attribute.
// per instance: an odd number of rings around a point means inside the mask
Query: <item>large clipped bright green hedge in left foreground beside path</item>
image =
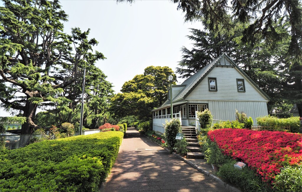
<svg viewBox="0 0 302 192"><path fill-rule="evenodd" d="M0 191L97 191L119 151L119 131L0 151Z"/></svg>

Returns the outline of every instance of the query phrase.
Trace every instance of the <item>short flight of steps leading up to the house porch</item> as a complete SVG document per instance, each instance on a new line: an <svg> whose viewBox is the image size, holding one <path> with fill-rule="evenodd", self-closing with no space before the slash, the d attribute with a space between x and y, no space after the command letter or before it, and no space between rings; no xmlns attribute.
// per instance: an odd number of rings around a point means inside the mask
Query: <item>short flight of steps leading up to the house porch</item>
<svg viewBox="0 0 302 192"><path fill-rule="evenodd" d="M187 149L189 150L187 153L187 159L203 159L204 155L200 152L200 146L197 139L197 130L195 130L195 127L182 126L182 133L184 133L184 137L189 143L189 146L187 146Z"/></svg>

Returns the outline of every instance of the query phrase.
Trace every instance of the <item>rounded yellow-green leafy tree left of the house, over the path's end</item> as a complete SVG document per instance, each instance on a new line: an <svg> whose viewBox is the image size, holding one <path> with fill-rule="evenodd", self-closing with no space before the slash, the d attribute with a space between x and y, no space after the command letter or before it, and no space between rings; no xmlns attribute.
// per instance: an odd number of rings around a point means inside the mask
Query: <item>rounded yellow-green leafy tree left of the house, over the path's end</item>
<svg viewBox="0 0 302 192"><path fill-rule="evenodd" d="M139 120L149 120L152 117L151 110L167 99L169 75L176 80L176 75L169 67L147 67L144 74L135 75L132 80L124 83L121 89L123 93L118 93L111 99L111 113L116 118L134 115Z"/></svg>

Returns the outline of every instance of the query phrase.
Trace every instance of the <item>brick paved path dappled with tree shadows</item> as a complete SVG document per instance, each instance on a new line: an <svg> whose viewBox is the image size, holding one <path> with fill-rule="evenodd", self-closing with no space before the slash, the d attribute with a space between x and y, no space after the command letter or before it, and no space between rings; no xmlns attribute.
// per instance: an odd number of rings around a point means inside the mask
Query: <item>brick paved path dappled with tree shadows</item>
<svg viewBox="0 0 302 192"><path fill-rule="evenodd" d="M226 189L134 128L128 128L104 191L222 192Z"/></svg>

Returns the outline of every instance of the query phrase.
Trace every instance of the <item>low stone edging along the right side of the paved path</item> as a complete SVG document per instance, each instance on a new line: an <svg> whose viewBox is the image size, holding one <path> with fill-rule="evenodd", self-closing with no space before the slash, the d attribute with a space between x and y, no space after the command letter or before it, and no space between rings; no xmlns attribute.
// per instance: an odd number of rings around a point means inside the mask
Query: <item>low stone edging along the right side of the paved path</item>
<svg viewBox="0 0 302 192"><path fill-rule="evenodd" d="M144 135L144 134L143 134ZM146 136L146 135L144 135ZM146 136L147 137L147 136ZM147 137L149 138L149 137ZM150 139L151 140L151 139ZM152 141L152 140L151 140ZM154 142L154 141L152 141ZM156 142L154 142L156 143ZM156 143L158 146L162 147L163 149L165 149L167 152L170 152L169 149L163 147L162 145ZM225 183L224 181L222 181L220 178L218 178L217 176L211 174L209 171L204 170L201 167L198 167L198 165L196 165L195 163L191 162L188 159L183 158L181 155L176 154L175 152L172 152L172 155L174 155L175 157L177 157L178 159L182 160L183 162L185 162L186 164L190 165L192 168L196 169L197 171L201 172L202 174L206 175L207 177L209 177L211 180L216 181L218 184L220 184L221 186L225 187L226 190L228 191L232 191L232 192L242 192L241 190L237 189L236 187L231 186L230 184Z"/></svg>

